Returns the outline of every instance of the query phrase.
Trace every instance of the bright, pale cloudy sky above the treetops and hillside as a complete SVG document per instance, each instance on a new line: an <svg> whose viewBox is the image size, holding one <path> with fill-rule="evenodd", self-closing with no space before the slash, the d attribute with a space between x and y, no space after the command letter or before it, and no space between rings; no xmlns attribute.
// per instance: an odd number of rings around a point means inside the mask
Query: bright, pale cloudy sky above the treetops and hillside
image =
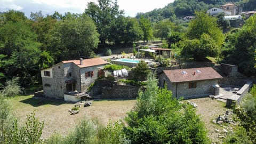
<svg viewBox="0 0 256 144"><path fill-rule="evenodd" d="M114 0L113 0L114 1ZM138 12L149 12L163 8L174 0L117 0L119 10L124 10L125 16L135 17ZM0 0L0 11L10 9L24 12L27 17L30 12L42 11L44 15L53 14L54 11L82 13L88 2L97 3L97 0Z"/></svg>

